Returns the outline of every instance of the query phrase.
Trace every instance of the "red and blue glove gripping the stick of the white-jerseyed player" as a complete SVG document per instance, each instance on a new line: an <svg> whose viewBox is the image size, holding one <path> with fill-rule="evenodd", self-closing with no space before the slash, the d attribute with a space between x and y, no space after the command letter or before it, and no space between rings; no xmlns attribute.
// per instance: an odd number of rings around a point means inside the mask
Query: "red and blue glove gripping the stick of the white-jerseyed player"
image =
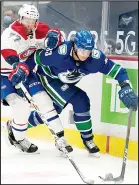
<svg viewBox="0 0 139 185"><path fill-rule="evenodd" d="M24 82L29 75L29 68L25 63L18 63L9 74L8 79L12 82L13 86L16 86L20 82Z"/></svg>

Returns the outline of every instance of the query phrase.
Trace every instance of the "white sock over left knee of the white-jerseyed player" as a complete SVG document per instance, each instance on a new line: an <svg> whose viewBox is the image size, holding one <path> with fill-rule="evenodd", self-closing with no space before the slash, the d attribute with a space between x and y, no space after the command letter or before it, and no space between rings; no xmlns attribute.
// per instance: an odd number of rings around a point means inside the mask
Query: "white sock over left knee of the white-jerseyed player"
<svg viewBox="0 0 139 185"><path fill-rule="evenodd" d="M12 108L14 122L19 125L27 124L30 114L29 103L16 93L8 95L6 101Z"/></svg>

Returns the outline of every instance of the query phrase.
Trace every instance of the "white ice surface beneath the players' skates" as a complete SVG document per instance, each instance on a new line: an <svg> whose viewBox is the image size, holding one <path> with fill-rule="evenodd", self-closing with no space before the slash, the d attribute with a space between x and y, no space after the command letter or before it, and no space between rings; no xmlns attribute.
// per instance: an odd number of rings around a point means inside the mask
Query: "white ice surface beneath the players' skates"
<svg viewBox="0 0 139 185"><path fill-rule="evenodd" d="M7 146L1 137L2 184L84 184L67 158L51 142L31 140L38 145L40 154L26 155ZM120 175L122 158L101 154L100 158L88 156L87 151L74 147L73 160L84 176L102 184L98 176L111 172ZM108 184L108 183L107 183ZM138 184L138 162L127 160L123 184Z"/></svg>

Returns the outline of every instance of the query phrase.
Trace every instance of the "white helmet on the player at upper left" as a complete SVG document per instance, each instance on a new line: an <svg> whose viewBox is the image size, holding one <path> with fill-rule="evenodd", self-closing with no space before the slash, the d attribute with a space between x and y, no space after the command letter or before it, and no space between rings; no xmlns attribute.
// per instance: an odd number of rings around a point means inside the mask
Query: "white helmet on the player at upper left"
<svg viewBox="0 0 139 185"><path fill-rule="evenodd" d="M39 12L34 5L24 4L18 11L19 17L28 17L30 19L39 19Z"/></svg>

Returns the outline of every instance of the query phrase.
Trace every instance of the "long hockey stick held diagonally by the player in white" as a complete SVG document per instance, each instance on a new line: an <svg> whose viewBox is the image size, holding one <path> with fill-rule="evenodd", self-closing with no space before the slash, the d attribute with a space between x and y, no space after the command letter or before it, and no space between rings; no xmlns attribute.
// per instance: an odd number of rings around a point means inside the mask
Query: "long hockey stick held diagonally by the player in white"
<svg viewBox="0 0 139 185"><path fill-rule="evenodd" d="M52 133L52 135L55 138L55 141L58 143L60 149L62 150L62 152L64 153L64 155L69 159L69 161L71 162L71 164L73 165L73 167L75 168L76 172L79 174L79 176L81 177L82 181L86 184L94 184L94 180L88 179L87 177L85 177L80 169L78 168L78 166L76 165L76 163L73 161L73 159L71 158L71 156L69 155L68 151L65 149L65 147L62 146L61 143L59 143L59 138L58 136L55 134L55 132L51 129L50 125L47 124L47 120L46 118L41 114L41 112L39 111L38 106L34 103L32 97L30 96L29 92L27 91L27 89L25 88L25 86L23 85L23 83L21 82L20 84L17 85L17 88L21 88L24 95L26 96L26 98L29 100L29 102L32 104L32 106L35 108L35 110L38 112L39 116L41 117L41 119L43 120L43 122L48 126L50 132Z"/></svg>

